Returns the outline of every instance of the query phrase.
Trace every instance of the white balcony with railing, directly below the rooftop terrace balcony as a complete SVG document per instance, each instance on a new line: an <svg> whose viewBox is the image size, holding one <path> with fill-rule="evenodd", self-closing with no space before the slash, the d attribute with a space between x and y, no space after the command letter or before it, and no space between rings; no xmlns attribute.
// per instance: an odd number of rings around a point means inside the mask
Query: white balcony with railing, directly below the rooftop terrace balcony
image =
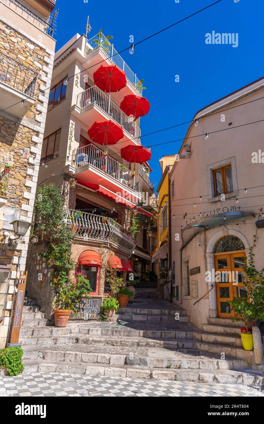
<svg viewBox="0 0 264 424"><path fill-rule="evenodd" d="M124 131L124 137L120 140L121 147L133 143L140 144L139 126L96 85L77 96L76 104L71 107L71 113L88 127L95 121L104 119L118 123Z"/></svg>

